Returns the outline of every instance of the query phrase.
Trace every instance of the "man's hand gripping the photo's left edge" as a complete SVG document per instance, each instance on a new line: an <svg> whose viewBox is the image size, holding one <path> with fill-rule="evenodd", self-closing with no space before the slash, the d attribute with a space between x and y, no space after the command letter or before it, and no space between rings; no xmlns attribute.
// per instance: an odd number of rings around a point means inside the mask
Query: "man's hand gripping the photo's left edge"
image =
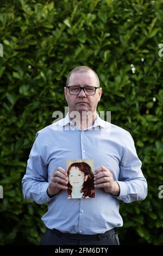
<svg viewBox="0 0 163 256"><path fill-rule="evenodd" d="M60 190L67 190L68 177L66 171L58 167L57 170L52 173L49 186L47 188L47 194L50 197L53 197Z"/></svg>

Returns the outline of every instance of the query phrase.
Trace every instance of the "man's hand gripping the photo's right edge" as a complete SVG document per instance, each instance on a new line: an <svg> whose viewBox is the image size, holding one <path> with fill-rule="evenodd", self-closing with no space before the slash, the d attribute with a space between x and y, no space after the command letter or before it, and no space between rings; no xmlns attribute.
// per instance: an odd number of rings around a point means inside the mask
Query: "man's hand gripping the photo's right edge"
<svg viewBox="0 0 163 256"><path fill-rule="evenodd" d="M119 196L120 186L115 180L113 180L112 173L109 169L101 166L95 170L94 175L95 187L103 188L105 192L111 193L114 196Z"/></svg>

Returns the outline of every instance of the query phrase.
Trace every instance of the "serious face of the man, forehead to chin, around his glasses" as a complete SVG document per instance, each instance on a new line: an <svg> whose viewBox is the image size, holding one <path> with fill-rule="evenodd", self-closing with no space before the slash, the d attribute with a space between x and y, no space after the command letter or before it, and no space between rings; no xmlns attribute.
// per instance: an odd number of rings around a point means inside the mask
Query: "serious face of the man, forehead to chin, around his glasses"
<svg viewBox="0 0 163 256"><path fill-rule="evenodd" d="M70 76L68 86L98 87L97 78L91 70L83 73L73 73ZM98 101L101 99L102 88L97 89L95 95L86 95L83 90L80 91L79 95L71 95L66 87L64 92L70 113L72 111L78 111L79 113L82 113L82 111L95 112Z"/></svg>

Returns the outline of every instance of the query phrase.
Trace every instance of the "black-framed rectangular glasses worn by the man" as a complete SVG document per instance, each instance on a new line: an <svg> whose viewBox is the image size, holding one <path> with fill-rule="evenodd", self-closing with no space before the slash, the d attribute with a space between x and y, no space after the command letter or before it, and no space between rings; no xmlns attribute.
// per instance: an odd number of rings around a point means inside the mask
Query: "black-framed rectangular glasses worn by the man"
<svg viewBox="0 0 163 256"><path fill-rule="evenodd" d="M99 87L95 86L86 86L86 87L80 87L80 86L67 86L68 92L71 95L78 95L81 90L84 90L84 93L86 95L95 95L96 90L99 89Z"/></svg>

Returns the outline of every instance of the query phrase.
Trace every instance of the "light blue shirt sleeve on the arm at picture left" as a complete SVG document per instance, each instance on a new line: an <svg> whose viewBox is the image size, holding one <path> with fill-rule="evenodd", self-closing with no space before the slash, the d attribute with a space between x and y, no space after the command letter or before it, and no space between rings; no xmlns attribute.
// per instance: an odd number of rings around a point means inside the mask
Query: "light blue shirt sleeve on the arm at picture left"
<svg viewBox="0 0 163 256"><path fill-rule="evenodd" d="M33 200L37 204L50 202L47 194L48 188L48 168L45 162L46 150L43 147L43 138L39 132L30 151L27 161L26 174L22 179L23 196L25 199Z"/></svg>

